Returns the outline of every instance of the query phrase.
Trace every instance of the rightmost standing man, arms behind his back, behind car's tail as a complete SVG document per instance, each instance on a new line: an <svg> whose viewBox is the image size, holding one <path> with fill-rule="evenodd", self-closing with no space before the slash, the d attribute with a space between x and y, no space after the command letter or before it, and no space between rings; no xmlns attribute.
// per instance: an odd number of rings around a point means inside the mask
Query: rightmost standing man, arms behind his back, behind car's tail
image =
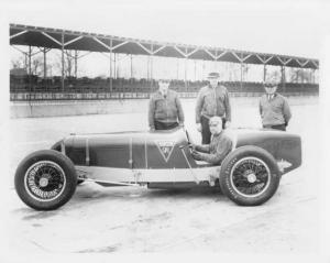
<svg viewBox="0 0 330 263"><path fill-rule="evenodd" d="M264 83L265 94L258 103L263 128L286 131L292 118L287 99L277 94L278 81L273 77Z"/></svg>

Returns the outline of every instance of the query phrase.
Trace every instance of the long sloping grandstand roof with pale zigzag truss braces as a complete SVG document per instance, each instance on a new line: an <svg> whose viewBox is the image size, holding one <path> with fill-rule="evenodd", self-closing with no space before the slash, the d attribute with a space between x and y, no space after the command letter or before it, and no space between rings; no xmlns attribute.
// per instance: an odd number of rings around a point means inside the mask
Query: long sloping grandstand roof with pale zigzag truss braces
<svg viewBox="0 0 330 263"><path fill-rule="evenodd" d="M188 59L219 61L274 66L319 68L315 58L256 53L221 47L197 46L95 34L62 29L10 24L11 45L31 45L90 52L113 52Z"/></svg>

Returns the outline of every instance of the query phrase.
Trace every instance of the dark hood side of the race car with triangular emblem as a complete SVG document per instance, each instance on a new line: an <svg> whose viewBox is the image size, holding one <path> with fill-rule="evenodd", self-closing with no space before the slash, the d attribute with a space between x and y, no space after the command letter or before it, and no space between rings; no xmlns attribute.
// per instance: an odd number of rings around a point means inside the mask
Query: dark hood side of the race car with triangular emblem
<svg viewBox="0 0 330 263"><path fill-rule="evenodd" d="M197 167L187 149L183 130L174 132L128 132L73 135L66 155L77 165L114 168L188 168ZM186 146L180 149L180 146Z"/></svg>

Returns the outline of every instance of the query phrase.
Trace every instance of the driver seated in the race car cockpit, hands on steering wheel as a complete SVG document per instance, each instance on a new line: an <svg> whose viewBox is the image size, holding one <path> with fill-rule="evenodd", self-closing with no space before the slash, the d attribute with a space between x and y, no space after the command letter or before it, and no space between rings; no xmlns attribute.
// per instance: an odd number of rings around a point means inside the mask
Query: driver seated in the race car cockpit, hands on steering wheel
<svg viewBox="0 0 330 263"><path fill-rule="evenodd" d="M191 155L197 161L205 161L213 165L220 165L232 150L232 140L222 130L222 118L212 117L209 121L212 139L210 144L190 144Z"/></svg>

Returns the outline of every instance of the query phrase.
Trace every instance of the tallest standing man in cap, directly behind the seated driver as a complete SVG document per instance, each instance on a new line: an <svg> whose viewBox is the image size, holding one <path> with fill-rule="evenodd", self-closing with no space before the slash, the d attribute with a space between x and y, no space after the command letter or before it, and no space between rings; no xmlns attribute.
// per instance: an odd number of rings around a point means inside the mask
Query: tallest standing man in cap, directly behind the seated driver
<svg viewBox="0 0 330 263"><path fill-rule="evenodd" d="M218 116L223 119L223 127L228 128L231 122L231 107L228 90L219 85L219 73L208 75L209 84L202 87L197 96L196 102L196 124L197 130L201 132L201 143L209 144L211 132L209 129L209 119Z"/></svg>

